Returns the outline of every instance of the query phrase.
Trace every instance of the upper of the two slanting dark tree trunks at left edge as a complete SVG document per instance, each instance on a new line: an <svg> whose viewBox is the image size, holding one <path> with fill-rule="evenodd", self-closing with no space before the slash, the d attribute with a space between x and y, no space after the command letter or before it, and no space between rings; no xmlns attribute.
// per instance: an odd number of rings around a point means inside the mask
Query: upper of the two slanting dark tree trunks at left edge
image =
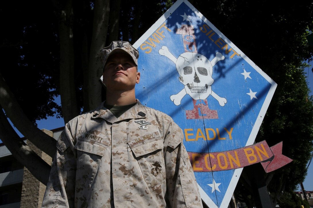
<svg viewBox="0 0 313 208"><path fill-rule="evenodd" d="M51 136L40 131L24 114L23 110L16 101L13 93L10 91L7 83L0 73L0 105L10 118L14 126L31 141L35 146L44 151L50 157L54 157L56 151L56 141ZM1 108L2 110L2 108ZM5 134L4 136L9 136ZM1 140L10 141L10 138L1 137ZM43 142L44 141L44 142ZM12 145L18 145L12 141Z"/></svg>

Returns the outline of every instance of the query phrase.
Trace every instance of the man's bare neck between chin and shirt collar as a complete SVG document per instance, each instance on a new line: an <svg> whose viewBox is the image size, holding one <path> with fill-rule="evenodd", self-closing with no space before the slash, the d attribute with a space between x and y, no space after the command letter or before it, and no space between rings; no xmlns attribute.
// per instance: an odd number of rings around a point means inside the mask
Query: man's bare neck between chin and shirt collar
<svg viewBox="0 0 313 208"><path fill-rule="evenodd" d="M105 103L110 106L127 106L136 103L135 90L127 92L106 92Z"/></svg>

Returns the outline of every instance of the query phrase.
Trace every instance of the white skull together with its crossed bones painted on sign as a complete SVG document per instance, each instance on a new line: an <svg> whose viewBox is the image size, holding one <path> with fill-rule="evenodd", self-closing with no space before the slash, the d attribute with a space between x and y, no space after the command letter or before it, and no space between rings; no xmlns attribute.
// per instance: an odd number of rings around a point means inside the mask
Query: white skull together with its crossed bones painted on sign
<svg viewBox="0 0 313 208"><path fill-rule="evenodd" d="M182 53L176 58L171 52L169 52L166 46L162 46L159 50L159 54L166 56L176 64L179 81L185 86L184 89L176 95L170 97L175 105L180 105L182 98L186 94L190 95L194 100L204 100L209 95L212 95L218 101L220 106L225 105L227 100L223 97L219 97L211 88L211 85L214 82L212 78L213 66L218 61L225 58L220 52L215 54L215 57L211 62L202 54L192 52Z"/></svg>

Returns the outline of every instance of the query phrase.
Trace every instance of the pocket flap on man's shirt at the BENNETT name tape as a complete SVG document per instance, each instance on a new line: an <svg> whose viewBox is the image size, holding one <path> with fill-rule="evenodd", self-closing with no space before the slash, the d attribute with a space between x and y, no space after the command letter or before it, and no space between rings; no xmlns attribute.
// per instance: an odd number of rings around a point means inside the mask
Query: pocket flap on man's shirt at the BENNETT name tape
<svg viewBox="0 0 313 208"><path fill-rule="evenodd" d="M104 152L107 147L108 146L103 143L81 138L81 137L78 138L77 143L74 146L74 148L77 150L92 153L92 154L99 155L99 156L104 155Z"/></svg>

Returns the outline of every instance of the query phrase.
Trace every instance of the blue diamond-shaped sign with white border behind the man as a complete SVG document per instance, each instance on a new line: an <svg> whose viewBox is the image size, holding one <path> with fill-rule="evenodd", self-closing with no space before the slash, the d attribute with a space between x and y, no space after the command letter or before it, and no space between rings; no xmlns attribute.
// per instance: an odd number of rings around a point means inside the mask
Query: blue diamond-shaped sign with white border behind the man
<svg viewBox="0 0 313 208"><path fill-rule="evenodd" d="M189 156L203 201L227 207L242 168L231 169L236 159L225 151L253 144L275 82L187 1L177 1L134 47L136 98L173 118L188 152L224 152L202 165Z"/></svg>

